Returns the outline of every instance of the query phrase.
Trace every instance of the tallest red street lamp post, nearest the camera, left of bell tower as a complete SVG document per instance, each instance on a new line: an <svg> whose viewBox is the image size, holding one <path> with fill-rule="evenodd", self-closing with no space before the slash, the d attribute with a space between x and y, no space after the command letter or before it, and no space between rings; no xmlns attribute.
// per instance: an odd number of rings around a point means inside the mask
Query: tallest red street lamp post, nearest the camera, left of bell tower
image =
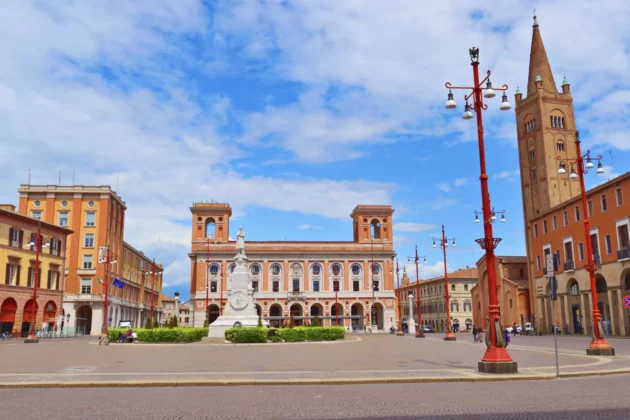
<svg viewBox="0 0 630 420"><path fill-rule="evenodd" d="M501 88L492 88L490 82L490 70L487 72L487 76L480 82L479 81L479 49L470 48L470 61L473 68L474 86L472 87L456 87L451 86L450 82L445 84L449 89L448 100L446 101L447 109L454 109L457 105L453 98L451 89L465 89L471 91L464 96L466 101L466 107L462 116L465 120L473 118L473 111L477 114L477 137L479 143L479 166L480 176L479 181L481 183L481 202L483 205L483 230L484 237L477 239L476 242L486 252L486 268L488 272L488 327L486 329L486 353L481 361L478 363L478 369L480 372L485 373L516 373L518 371L518 364L512 360L506 349L506 341L503 336L503 329L501 328L501 320L499 317L499 299L497 296L497 272L496 261L494 255L494 249L501 241L501 238L494 238L492 235L492 221L491 221L491 206L490 206L490 194L488 192L488 174L486 173L486 152L484 148L483 139L483 117L482 111L488 109L488 106L483 103L483 97L494 98L496 96L495 90L506 91L507 85L503 85ZM482 87L482 84L486 83L486 87ZM472 98L472 105L468 104L468 100ZM507 111L511 108L507 100L507 95L503 93L500 109Z"/></svg>

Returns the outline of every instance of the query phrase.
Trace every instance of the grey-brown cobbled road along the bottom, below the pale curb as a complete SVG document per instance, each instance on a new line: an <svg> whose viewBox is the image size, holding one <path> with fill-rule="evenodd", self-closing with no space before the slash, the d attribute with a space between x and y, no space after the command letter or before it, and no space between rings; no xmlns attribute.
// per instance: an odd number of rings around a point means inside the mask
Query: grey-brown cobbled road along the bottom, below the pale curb
<svg viewBox="0 0 630 420"><path fill-rule="evenodd" d="M2 419L627 419L628 377L554 381L0 390Z"/></svg>

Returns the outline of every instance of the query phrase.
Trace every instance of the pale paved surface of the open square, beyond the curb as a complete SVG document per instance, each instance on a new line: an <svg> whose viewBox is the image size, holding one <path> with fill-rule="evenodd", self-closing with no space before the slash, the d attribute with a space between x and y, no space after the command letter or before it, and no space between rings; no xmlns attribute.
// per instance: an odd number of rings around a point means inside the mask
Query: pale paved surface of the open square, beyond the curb
<svg viewBox="0 0 630 420"><path fill-rule="evenodd" d="M479 378L485 352L469 334L457 342L441 334L425 339L389 334L350 335L342 342L230 345L111 344L95 338L3 342L0 382L128 381L181 384L202 380L370 379L391 377ZM630 369L630 340L611 340L619 356L586 356L588 337L561 337L561 373ZM552 337L515 337L508 348L518 376L554 371ZM170 381L170 382L169 382Z"/></svg>

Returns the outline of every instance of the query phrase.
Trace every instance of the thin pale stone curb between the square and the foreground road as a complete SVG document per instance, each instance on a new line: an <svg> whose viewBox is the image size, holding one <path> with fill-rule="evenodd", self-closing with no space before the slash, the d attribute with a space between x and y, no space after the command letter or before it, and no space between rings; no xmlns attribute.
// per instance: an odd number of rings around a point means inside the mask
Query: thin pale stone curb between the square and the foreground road
<svg viewBox="0 0 630 420"><path fill-rule="evenodd" d="M560 378L582 378L601 375L628 374L630 369L599 372L561 373ZM265 385L368 385L368 384L423 384L453 382L515 382L556 379L555 375L479 376L479 377L390 377L354 379L208 379L208 380L127 380L127 381L50 381L50 382L0 382L0 389L51 389L51 388L166 388L166 387L216 387L216 386L265 386Z"/></svg>

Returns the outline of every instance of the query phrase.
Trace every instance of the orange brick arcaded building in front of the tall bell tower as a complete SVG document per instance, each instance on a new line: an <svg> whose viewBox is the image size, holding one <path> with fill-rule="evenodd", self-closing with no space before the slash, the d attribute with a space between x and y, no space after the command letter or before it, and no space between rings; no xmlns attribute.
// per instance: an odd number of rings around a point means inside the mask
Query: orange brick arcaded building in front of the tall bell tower
<svg viewBox="0 0 630 420"><path fill-rule="evenodd" d="M593 175L596 176L596 175ZM592 297L586 264L585 241L591 241L596 272L596 293L608 334L630 335L630 314L623 306L630 295L630 172L587 191L587 214L580 197L567 200L529 220L533 238L534 284L539 328L551 331L554 321L572 334L591 334ZM590 221L585 237L584 218ZM551 312L551 291L546 277L546 256L559 261L558 300Z"/></svg>

